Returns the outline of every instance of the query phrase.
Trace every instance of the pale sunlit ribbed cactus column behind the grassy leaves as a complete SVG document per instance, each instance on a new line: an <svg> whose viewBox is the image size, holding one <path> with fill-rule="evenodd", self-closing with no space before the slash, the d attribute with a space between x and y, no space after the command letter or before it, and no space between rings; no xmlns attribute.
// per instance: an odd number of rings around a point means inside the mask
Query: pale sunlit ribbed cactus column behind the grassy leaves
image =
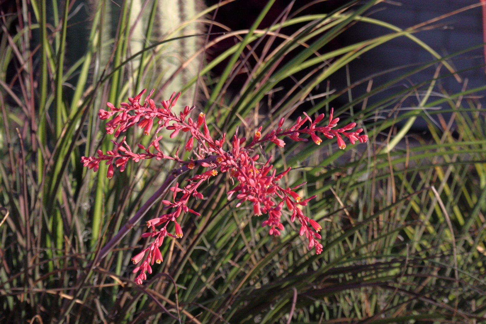
<svg viewBox="0 0 486 324"><path fill-rule="evenodd" d="M133 55L144 48L158 42L176 38L180 36L202 34L203 26L194 19L194 16L202 10L201 0L133 0L129 3L129 43L127 57ZM117 28L118 20L114 19L118 15L117 10L113 10L111 15L112 28ZM147 39L147 36L150 35ZM171 79L162 91L162 97L169 97L173 91L184 88L187 81L197 74L199 60L192 60L191 64L184 69L177 71L179 66L189 59L202 45L202 36L193 36L174 40L161 44L154 49L144 53L129 65L127 76L131 81L138 82L137 86L130 89L130 80L123 86L122 95L131 95L130 90L138 92L142 88L156 88ZM143 60L143 62L142 62ZM140 69L140 64L142 69ZM139 73L142 77L139 77ZM174 75L175 73L175 75ZM136 89L135 89L136 88ZM130 89L130 90L129 90ZM192 90L192 91L191 91ZM191 104L193 89L188 89L181 98L181 102ZM126 97L126 96L125 96Z"/></svg>

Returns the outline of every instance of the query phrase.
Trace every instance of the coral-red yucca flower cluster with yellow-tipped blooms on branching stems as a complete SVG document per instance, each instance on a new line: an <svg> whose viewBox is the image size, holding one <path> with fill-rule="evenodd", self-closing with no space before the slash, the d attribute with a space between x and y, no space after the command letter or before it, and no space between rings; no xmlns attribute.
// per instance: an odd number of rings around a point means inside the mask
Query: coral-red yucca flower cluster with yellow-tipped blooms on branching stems
<svg viewBox="0 0 486 324"><path fill-rule="evenodd" d="M228 199L233 195L239 200L236 207L239 207L243 202L248 201L253 205L255 215L267 214L268 219L262 222L262 226L268 226L270 235L280 235L280 230L283 225L280 223L280 216L285 205L291 212L291 221L295 219L301 224L299 234L306 235L309 240L309 249L315 248L317 254L322 251L322 244L317 240L321 236L317 233L321 227L320 225L302 213L301 206L306 206L309 200L315 197L303 199L295 193L295 189L304 185L302 183L293 188L282 188L280 186L280 179L290 171L290 167L282 173L277 173L270 164L270 159L265 163L257 162L260 158L258 154L254 154L253 148L259 146L264 142L273 142L277 146L285 146L285 142L281 137L287 136L294 141L307 141L305 138L300 138L301 134L308 134L311 136L315 144L320 145L322 140L317 133L332 139L337 138L338 146L341 149L346 147L343 137L347 137L351 144L356 141L364 143L368 137L360 135L363 129L350 131L356 126L356 123L348 124L347 126L334 129L337 126L339 118L332 117L332 110L327 126L317 126L317 124L324 118L324 114L320 114L313 121L306 113L305 117L298 117L295 124L287 129L282 129L284 119L281 118L278 122L278 128L271 130L266 135L261 134L262 127L260 127L253 138L248 140L244 137L238 136L238 129L233 135L231 147L224 147L226 133L223 134L219 140L213 139L208 125L206 124L206 116L204 113L199 113L197 120L193 120L189 115L195 107L186 106L184 110L175 114L171 111L174 107L180 93L174 94L169 100L161 101L162 107L157 108L154 100L150 99L154 90L148 97L145 98L143 104L140 104L140 98L145 93L143 90L138 96L128 98L129 103L121 103L120 108L114 107L111 103L106 103L109 111L100 110L98 113L100 119L111 118L105 126L106 133L115 134L118 137L121 132L126 131L134 125L143 128L144 134L149 135L154 123L157 126L156 134L163 128L172 130L170 137L173 138L180 131L190 132L191 137L185 145L187 151L193 151L196 158L191 158L189 161L184 161L178 157L178 152L174 156L165 155L159 147L158 142L162 136L156 137L148 147L138 144L141 153L135 153L125 141L125 137L120 142L111 141L114 147L111 151L105 153L98 150L98 157L83 157L81 162L94 171L98 170L99 163L104 161L109 164L107 177L113 177L113 165L123 171L129 160L138 162L144 159L171 159L187 169L194 169L196 166L205 168L205 171L188 179L188 184L179 187L176 183L174 187L170 188L173 192L172 201L163 200L162 203L166 205L165 209L172 211L156 218L147 221L147 226L151 229L150 232L142 234L142 237L151 237L154 241L149 247L142 250L139 254L132 258L133 263L142 263L134 269L135 272L140 272L137 276L136 282L142 283L146 279L146 272L152 273L151 265L162 262L162 255L159 246L163 243L166 236L181 238L184 234L177 223L177 218L186 212L200 215L197 211L193 211L188 207L190 199L202 199L203 195L197 190L199 186L214 177L219 172L227 172L235 182L236 186L228 192ZM304 124L309 123L306 127ZM280 138L279 138L280 137ZM247 143L245 145L245 142ZM152 149L153 147L153 149ZM169 225L174 223L174 227ZM173 229L173 232L172 231Z"/></svg>

